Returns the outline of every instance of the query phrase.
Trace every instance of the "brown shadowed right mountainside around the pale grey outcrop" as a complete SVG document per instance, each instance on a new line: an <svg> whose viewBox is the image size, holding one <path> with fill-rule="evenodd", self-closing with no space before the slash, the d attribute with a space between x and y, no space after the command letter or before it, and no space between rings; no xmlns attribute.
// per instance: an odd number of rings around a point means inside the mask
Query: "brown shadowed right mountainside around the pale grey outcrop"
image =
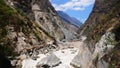
<svg viewBox="0 0 120 68"><path fill-rule="evenodd" d="M87 36L86 43L91 52L99 51L101 48L111 43L114 44L114 48L110 49L101 60L105 60L109 63L109 68L119 68L120 67L120 0L96 0L95 6L93 8L92 13L90 14L86 23L79 29L79 35ZM115 40L111 41L108 38L104 40L106 43L100 43L100 39L106 33L113 33L115 35ZM110 35L109 35L110 36ZM112 38L112 39L114 39ZM101 39L102 41L103 39ZM100 44L103 47L96 47ZM109 48L107 48L109 49ZM107 49L103 50L105 53ZM102 51L101 51L102 52ZM99 56L99 55L97 55ZM99 61L98 58L95 60Z"/></svg>

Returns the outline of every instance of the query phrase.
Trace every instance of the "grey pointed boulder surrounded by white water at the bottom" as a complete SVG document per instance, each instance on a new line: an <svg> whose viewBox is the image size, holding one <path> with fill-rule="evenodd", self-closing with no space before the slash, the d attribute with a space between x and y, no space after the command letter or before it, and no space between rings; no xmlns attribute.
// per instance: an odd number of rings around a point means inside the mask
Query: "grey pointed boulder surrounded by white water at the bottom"
<svg viewBox="0 0 120 68"><path fill-rule="evenodd" d="M55 67L55 66L58 66L60 63L61 63L60 59L56 55L51 54L43 58L40 62L38 62L37 68Z"/></svg>

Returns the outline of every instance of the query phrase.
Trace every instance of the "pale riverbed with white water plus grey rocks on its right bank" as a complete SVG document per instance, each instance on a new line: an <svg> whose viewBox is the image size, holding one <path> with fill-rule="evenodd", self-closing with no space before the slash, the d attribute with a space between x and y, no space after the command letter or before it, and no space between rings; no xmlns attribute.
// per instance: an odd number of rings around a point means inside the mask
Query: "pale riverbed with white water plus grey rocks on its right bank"
<svg viewBox="0 0 120 68"><path fill-rule="evenodd" d="M107 41L108 38L114 41L113 37L112 33L103 35L94 52L84 43L85 37L81 41L60 43L56 51L41 53L36 59L24 59L22 68L108 68L108 63L101 58L113 48L113 44Z"/></svg>

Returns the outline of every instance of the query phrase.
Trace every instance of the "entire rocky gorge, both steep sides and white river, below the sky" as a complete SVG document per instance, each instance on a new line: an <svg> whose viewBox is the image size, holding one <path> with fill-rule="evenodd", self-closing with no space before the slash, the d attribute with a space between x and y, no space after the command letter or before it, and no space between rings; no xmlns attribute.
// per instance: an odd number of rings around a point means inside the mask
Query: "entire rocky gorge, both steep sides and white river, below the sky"
<svg viewBox="0 0 120 68"><path fill-rule="evenodd" d="M96 0L75 31L49 0L0 0L0 68L120 68L119 7Z"/></svg>

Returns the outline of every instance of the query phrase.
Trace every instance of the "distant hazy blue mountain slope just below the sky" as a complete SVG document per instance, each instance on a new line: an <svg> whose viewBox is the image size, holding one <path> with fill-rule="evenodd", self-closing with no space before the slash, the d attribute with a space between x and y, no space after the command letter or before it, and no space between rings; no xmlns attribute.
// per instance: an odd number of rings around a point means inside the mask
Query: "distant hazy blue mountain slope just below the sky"
<svg viewBox="0 0 120 68"><path fill-rule="evenodd" d="M80 27L82 25L82 23L79 20L77 20L74 17L70 17L69 15L64 13L63 11L57 11L57 13L66 23L69 23L69 24L74 25L76 27Z"/></svg>

